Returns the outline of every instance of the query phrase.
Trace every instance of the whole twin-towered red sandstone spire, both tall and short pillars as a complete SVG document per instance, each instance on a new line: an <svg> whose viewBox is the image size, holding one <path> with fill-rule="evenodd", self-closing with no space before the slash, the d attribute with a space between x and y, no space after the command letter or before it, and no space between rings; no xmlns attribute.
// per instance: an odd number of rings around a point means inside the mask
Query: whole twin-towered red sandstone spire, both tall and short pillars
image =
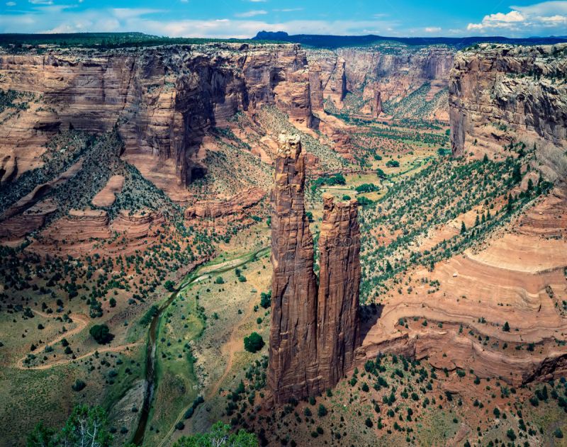
<svg viewBox="0 0 567 447"><path fill-rule="evenodd" d="M305 216L305 152L298 135L280 135L271 192L272 304L267 374L271 405L317 395L337 384L359 346L357 202L326 209L320 238L321 289ZM347 239L348 243L347 243ZM353 244L350 240L354 240ZM332 277L332 278L331 278ZM335 279L341 286L335 288ZM332 281L332 283L331 283Z"/></svg>

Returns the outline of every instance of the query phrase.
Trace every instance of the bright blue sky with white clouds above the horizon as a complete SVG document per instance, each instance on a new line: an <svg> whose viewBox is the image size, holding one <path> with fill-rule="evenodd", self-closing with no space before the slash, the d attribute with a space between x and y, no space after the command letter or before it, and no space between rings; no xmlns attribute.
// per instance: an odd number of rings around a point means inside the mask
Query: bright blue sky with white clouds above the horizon
<svg viewBox="0 0 567 447"><path fill-rule="evenodd" d="M125 32L249 38L290 34L567 35L567 1L11 0L1 33Z"/></svg>

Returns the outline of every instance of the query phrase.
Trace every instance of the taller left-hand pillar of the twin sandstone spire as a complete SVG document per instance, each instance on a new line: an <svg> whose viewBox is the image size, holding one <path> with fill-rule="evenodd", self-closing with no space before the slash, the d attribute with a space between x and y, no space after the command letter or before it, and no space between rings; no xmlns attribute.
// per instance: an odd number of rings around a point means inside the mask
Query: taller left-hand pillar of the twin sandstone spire
<svg viewBox="0 0 567 447"><path fill-rule="evenodd" d="M280 135L271 191L271 329L268 387L275 404L319 392L317 277L305 216L305 152L298 135Z"/></svg>

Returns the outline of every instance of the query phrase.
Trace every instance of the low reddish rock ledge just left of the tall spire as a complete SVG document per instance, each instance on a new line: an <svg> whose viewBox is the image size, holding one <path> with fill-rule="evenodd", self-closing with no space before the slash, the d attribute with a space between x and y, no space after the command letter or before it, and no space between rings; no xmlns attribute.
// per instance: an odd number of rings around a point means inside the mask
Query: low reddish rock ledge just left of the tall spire
<svg viewBox="0 0 567 447"><path fill-rule="evenodd" d="M220 217L230 214L242 213L242 210L256 205L260 200L266 197L266 191L257 186L252 186L242 193L232 196L228 200L197 202L195 206L185 210L185 219L191 220L196 217Z"/></svg>

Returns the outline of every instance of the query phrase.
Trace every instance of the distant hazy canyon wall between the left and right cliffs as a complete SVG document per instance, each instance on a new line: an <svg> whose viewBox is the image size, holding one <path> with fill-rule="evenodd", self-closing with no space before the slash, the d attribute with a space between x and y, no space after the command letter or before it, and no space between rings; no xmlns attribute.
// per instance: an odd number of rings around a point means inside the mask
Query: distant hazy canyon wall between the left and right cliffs
<svg viewBox="0 0 567 447"><path fill-rule="evenodd" d="M447 47L412 48L405 45L307 50L311 82L311 103L322 109L322 101L330 99L337 109L345 106L347 94L359 96L349 104L355 113L391 116L393 118L425 118L449 120L447 86L455 52ZM421 101L396 106L404 98L424 87ZM425 101L434 101L423 108ZM382 103L389 102L388 109ZM423 108L423 110L421 110ZM386 112L386 113L383 113Z"/></svg>

